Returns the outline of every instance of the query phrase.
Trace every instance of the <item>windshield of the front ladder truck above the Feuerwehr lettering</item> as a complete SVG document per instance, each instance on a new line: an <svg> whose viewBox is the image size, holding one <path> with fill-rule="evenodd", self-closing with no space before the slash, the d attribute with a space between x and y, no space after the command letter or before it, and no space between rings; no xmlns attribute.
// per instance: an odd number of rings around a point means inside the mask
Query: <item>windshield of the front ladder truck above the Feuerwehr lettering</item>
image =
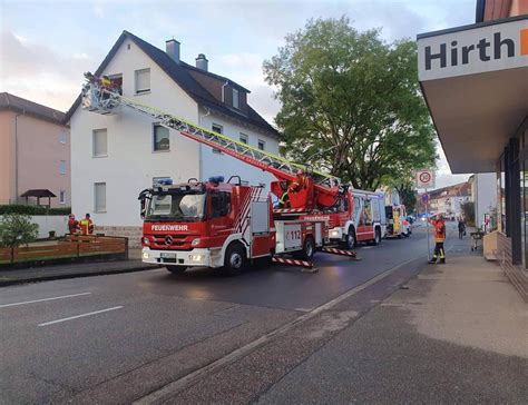
<svg viewBox="0 0 528 405"><path fill-rule="evenodd" d="M151 196L145 220L197 221L203 219L205 192L156 194Z"/></svg>

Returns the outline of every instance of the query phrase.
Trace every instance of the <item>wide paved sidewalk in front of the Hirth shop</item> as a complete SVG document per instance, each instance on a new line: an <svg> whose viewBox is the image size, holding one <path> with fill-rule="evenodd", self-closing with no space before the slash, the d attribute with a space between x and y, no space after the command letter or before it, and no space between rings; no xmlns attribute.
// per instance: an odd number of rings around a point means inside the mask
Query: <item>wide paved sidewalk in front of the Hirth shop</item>
<svg viewBox="0 0 528 405"><path fill-rule="evenodd" d="M258 402L526 404L528 305L500 267L462 247L454 245L447 265L426 267Z"/></svg>

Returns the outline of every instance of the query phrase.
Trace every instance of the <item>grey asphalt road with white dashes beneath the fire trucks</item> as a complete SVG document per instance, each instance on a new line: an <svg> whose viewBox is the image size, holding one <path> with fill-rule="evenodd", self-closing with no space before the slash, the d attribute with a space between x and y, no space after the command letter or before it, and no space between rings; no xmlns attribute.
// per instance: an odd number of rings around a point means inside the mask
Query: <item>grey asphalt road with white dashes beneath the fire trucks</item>
<svg viewBox="0 0 528 405"><path fill-rule="evenodd" d="M129 403L423 259L427 243L418 228L358 253L361 261L319 254L315 274L257 266L226 278L159 269L1 288L0 402Z"/></svg>

